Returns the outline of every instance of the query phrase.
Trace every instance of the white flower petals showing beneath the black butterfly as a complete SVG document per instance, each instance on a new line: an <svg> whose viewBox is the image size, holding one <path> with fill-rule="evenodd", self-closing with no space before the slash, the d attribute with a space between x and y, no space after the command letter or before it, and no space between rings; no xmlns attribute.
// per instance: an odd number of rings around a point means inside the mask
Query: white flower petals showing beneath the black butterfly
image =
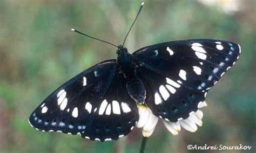
<svg viewBox="0 0 256 153"><path fill-rule="evenodd" d="M203 108L207 106L205 101L198 103L198 108ZM139 121L137 122L137 127L142 128L142 134L144 137L150 137L157 125L158 117L154 116L152 111L144 106L138 105L139 109ZM197 131L197 126L202 126L203 122L203 112L197 110L197 112L190 112L190 116L187 119L179 118L177 122L171 122L168 119L162 119L165 127L173 134L178 135L181 127L194 133Z"/></svg>

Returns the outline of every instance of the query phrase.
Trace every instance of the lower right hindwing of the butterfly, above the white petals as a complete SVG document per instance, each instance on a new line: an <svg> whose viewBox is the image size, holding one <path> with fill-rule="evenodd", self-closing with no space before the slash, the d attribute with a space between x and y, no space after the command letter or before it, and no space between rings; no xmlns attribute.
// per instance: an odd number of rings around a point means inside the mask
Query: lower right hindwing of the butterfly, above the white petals
<svg viewBox="0 0 256 153"><path fill-rule="evenodd" d="M146 105L163 119L177 122L186 119L190 112L196 112L200 101L205 100L205 92L188 91L178 82L163 75L142 68L138 75L146 88Z"/></svg>

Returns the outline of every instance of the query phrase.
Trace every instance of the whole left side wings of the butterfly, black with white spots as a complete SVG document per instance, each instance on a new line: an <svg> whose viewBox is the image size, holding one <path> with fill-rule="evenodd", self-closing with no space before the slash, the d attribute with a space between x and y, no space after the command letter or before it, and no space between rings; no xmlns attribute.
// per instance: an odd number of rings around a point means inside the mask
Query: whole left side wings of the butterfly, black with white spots
<svg viewBox="0 0 256 153"><path fill-rule="evenodd" d="M90 140L116 140L130 133L138 109L117 73L116 60L107 60L72 78L39 105L29 118L42 131L79 134Z"/></svg>

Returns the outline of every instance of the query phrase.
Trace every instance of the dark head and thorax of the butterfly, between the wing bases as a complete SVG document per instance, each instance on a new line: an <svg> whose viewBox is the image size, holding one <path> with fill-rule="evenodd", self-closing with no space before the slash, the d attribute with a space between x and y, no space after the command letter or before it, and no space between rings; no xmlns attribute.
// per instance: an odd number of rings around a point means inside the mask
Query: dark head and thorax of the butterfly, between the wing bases
<svg viewBox="0 0 256 153"><path fill-rule="evenodd" d="M119 45L117 50L117 66L119 72L124 74L126 79L134 76L134 62L132 55L127 51L127 48Z"/></svg>

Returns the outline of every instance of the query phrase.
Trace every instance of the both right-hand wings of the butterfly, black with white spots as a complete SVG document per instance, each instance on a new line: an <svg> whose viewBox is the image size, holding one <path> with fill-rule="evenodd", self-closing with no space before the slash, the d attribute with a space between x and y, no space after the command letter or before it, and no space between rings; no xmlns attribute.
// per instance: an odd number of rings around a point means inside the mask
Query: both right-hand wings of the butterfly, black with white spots
<svg viewBox="0 0 256 153"><path fill-rule="evenodd" d="M146 105L171 122L197 112L199 102L228 68L240 46L223 40L172 41L133 53L137 73L146 87Z"/></svg>

